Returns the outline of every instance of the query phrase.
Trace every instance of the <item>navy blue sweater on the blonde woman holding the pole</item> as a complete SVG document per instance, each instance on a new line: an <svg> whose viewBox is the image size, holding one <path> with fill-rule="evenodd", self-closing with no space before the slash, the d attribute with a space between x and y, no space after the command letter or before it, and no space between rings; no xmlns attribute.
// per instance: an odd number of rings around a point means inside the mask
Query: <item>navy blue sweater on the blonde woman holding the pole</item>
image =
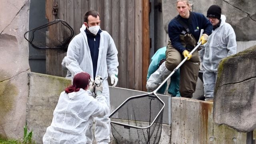
<svg viewBox="0 0 256 144"><path fill-rule="evenodd" d="M182 18L180 15L178 15L178 17L180 17L185 24L188 24L188 18ZM190 12L190 18L192 18L192 20L191 24L188 25L188 28L190 33L196 39L196 42L199 40L201 29L204 29L204 34L207 34L208 36L212 33L212 24L203 14ZM186 32L185 28L178 22L178 20L176 20L176 18L172 19L168 24L168 35L172 46L181 54L186 50L180 43L180 34L182 34L182 31Z"/></svg>

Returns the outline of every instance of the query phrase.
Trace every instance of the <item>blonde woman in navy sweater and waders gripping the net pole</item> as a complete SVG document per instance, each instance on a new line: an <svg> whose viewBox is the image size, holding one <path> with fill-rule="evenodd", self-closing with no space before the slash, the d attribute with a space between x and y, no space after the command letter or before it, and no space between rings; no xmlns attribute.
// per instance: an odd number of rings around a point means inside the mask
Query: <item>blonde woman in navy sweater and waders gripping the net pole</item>
<svg viewBox="0 0 256 144"><path fill-rule="evenodd" d="M192 98L196 90L200 61L197 50L193 55L189 52L199 39L201 44L207 42L208 36L212 33L212 24L203 14L191 12L191 3L188 0L177 0L176 9L179 14L168 25L170 40L166 50L165 66L172 72L185 57L188 57L180 67L180 95ZM200 38L202 29L204 32Z"/></svg>

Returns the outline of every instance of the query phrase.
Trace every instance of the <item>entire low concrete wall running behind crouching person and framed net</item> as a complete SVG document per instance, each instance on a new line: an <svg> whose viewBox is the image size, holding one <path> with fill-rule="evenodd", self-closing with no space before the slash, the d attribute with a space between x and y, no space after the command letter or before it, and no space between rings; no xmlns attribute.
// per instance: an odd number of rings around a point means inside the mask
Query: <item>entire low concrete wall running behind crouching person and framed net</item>
<svg viewBox="0 0 256 144"><path fill-rule="evenodd" d="M46 128L52 121L52 113L60 92L70 80L44 74L29 74L27 122L33 130L37 144L42 143ZM110 88L110 112L113 112L130 96L146 92L124 88ZM171 98L158 95L165 103L160 144L245 144L246 133L236 132L227 126L217 126L212 120L212 102L188 98ZM146 114L147 115L147 114ZM143 117L144 115L141 115ZM95 143L95 142L94 142ZM114 144L111 137L111 144ZM132 143L132 142L131 142Z"/></svg>

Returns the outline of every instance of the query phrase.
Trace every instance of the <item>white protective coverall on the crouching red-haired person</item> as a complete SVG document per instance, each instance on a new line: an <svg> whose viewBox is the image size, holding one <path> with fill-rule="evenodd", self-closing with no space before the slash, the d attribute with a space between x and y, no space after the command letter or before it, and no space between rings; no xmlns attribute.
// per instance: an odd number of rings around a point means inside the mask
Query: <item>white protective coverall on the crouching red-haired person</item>
<svg viewBox="0 0 256 144"><path fill-rule="evenodd" d="M109 108L105 96L95 98L80 88L78 92L60 94L53 112L52 124L46 129L44 144L86 144L84 130L93 117L107 116Z"/></svg>

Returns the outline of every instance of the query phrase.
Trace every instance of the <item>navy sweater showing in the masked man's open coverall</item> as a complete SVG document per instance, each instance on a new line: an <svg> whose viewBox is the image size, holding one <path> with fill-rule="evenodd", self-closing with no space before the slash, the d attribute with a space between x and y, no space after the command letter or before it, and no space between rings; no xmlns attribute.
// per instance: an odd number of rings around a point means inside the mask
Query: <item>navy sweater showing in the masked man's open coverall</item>
<svg viewBox="0 0 256 144"><path fill-rule="evenodd" d="M87 28L84 31L86 33L88 45L90 48L92 66L93 66L93 76L95 78L97 63L98 63L98 56L99 56L99 48L100 48L100 33L102 32L102 30L99 30L96 36L88 32Z"/></svg>

